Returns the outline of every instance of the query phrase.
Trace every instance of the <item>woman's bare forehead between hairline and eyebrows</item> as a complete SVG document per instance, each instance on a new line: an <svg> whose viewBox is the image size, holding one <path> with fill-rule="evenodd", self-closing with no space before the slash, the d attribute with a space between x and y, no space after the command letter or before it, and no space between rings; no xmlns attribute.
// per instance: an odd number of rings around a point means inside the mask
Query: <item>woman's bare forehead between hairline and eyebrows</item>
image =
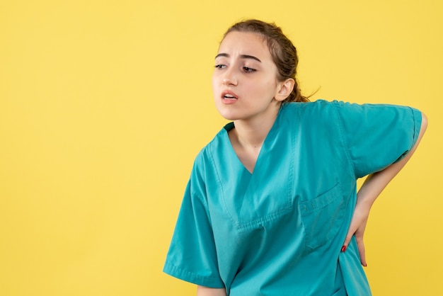
<svg viewBox="0 0 443 296"><path fill-rule="evenodd" d="M270 51L262 35L252 32L233 31L224 37L219 46L219 53L248 54L270 57Z"/></svg>

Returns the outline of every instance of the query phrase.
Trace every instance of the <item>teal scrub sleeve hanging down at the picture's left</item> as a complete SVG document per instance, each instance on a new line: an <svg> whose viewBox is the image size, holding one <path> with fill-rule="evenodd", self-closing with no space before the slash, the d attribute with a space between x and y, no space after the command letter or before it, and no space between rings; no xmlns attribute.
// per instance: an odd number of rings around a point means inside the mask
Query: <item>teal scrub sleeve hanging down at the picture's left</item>
<svg viewBox="0 0 443 296"><path fill-rule="evenodd" d="M209 210L202 196L204 191L204 183L194 166L163 272L196 285L224 288L218 271Z"/></svg>

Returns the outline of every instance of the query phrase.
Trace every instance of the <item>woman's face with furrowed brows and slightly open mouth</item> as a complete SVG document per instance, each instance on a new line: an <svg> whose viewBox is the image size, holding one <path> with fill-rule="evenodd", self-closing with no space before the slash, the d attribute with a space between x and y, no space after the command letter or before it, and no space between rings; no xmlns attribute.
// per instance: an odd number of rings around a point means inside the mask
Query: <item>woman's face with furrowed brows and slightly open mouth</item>
<svg viewBox="0 0 443 296"><path fill-rule="evenodd" d="M227 120L251 120L280 106L281 83L265 40L256 33L228 33L215 57L212 90Z"/></svg>

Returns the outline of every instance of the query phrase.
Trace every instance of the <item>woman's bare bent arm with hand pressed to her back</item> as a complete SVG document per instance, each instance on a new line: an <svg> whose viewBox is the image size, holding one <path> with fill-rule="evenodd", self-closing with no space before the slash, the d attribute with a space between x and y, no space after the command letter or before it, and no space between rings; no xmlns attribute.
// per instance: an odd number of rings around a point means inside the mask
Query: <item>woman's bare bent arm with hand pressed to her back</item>
<svg viewBox="0 0 443 296"><path fill-rule="evenodd" d="M367 266L366 256L364 252L363 234L366 228L367 219L369 217L369 211L376 198L380 195L381 191L388 185L388 183L396 176L396 174L401 171L403 166L408 162L410 157L417 149L423 134L425 133L427 127L427 118L422 113L422 125L420 127L420 133L418 134L417 142L413 149L403 158L401 161L391 164L383 171L377 173L372 173L364 181L362 187L357 193L357 204L355 205L354 215L350 224L350 229L347 232L345 243L343 244L342 251L346 250L347 244L349 244L353 235L357 239L358 251L363 266Z"/></svg>

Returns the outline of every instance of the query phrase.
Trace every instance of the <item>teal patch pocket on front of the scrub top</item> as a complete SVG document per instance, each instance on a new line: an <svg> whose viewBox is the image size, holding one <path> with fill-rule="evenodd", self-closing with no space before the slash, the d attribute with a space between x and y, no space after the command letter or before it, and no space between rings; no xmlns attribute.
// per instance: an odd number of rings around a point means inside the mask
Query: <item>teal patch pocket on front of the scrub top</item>
<svg viewBox="0 0 443 296"><path fill-rule="evenodd" d="M307 247L318 248L335 237L343 222L344 207L340 183L313 200L299 203Z"/></svg>

